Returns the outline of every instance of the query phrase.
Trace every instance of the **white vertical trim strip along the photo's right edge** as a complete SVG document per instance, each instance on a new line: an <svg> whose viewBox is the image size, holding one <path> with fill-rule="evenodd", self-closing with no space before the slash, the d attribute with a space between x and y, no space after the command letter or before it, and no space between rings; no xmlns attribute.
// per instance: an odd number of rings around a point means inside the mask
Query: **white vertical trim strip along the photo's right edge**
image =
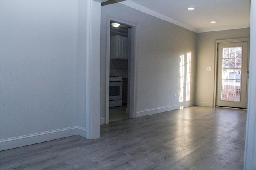
<svg viewBox="0 0 256 170"><path fill-rule="evenodd" d="M256 170L256 0L251 1L249 90L244 170Z"/></svg>

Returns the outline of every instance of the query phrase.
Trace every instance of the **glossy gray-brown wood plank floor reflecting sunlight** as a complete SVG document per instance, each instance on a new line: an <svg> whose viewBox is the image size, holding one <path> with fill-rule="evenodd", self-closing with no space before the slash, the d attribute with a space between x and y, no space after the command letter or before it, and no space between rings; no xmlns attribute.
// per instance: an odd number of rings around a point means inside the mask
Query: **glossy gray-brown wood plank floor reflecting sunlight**
<svg viewBox="0 0 256 170"><path fill-rule="evenodd" d="M1 170L242 170L246 110L192 106L2 151Z"/></svg>

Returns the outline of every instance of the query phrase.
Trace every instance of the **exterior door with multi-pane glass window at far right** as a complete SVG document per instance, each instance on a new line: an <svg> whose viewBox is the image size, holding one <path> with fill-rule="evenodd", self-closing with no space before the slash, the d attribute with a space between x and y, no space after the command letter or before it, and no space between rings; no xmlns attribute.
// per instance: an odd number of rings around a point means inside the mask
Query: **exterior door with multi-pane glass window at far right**
<svg viewBox="0 0 256 170"><path fill-rule="evenodd" d="M218 44L216 106L247 108L248 44Z"/></svg>

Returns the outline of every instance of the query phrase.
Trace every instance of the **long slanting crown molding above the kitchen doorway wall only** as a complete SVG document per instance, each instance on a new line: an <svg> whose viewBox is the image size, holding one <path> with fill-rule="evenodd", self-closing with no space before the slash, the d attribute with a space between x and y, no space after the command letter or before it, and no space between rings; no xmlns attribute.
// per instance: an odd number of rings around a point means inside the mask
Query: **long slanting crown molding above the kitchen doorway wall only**
<svg viewBox="0 0 256 170"><path fill-rule="evenodd" d="M170 23L173 23L175 25L178 25L178 26L183 27L185 29L188 29L190 31L197 32L197 29L195 29L194 27L190 27L189 25L181 23L181 22L179 22L177 20L174 20L174 19L172 19L170 17L167 17L167 16L165 16L163 14L160 14L160 13L154 11L154 10L150 10L149 8L146 8L146 7L144 7L144 6L140 5L140 4L136 4L135 2L132 2L130 0L122 1L122 2L119 2L119 3L120 4L124 4L126 6L129 6L131 8L134 8L136 10L139 10L141 12L144 12L146 14L155 16L155 17L160 18L160 19L162 19L164 21L168 21Z"/></svg>

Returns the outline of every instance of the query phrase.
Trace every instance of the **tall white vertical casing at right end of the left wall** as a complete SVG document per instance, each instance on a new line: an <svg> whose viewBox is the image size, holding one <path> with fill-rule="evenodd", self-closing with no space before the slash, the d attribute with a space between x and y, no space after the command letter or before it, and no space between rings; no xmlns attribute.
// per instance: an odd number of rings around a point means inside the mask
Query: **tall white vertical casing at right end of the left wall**
<svg viewBox="0 0 256 170"><path fill-rule="evenodd" d="M100 137L100 9L96 1L87 2L86 29L86 138ZM92 67L93 66L93 67Z"/></svg>

